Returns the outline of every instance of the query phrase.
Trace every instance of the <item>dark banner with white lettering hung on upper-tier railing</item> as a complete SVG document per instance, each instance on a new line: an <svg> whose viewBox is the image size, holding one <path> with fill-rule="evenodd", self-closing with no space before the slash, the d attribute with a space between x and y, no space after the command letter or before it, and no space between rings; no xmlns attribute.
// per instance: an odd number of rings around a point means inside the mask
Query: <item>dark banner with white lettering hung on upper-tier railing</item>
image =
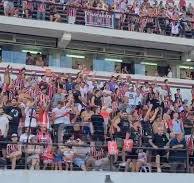
<svg viewBox="0 0 194 183"><path fill-rule="evenodd" d="M85 11L85 25L114 28L114 15L105 11Z"/></svg>

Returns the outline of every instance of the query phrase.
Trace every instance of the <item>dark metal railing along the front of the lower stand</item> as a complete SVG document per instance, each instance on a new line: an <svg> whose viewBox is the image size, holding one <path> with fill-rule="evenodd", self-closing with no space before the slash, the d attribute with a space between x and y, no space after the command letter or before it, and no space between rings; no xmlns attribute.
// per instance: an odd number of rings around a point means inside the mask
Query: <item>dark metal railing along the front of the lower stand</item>
<svg viewBox="0 0 194 183"><path fill-rule="evenodd" d="M0 142L1 147L4 146L4 151L10 144L16 143ZM74 143L17 143L16 145L21 146L21 153L16 158L16 169L193 173L191 171L193 158L189 156L187 149L158 148L156 150L151 147L133 147L130 152L120 150L117 155L109 155L106 144L92 146ZM29 150L33 148L34 151ZM46 155L45 152L48 149L51 154ZM60 151L57 151L59 149ZM91 153L94 149L95 151ZM165 153L159 156L161 152ZM178 152L178 157L172 152ZM146 155L144 162L140 158L142 155ZM4 158L0 157L0 168L13 168L12 161L13 158L7 155Z"/></svg>

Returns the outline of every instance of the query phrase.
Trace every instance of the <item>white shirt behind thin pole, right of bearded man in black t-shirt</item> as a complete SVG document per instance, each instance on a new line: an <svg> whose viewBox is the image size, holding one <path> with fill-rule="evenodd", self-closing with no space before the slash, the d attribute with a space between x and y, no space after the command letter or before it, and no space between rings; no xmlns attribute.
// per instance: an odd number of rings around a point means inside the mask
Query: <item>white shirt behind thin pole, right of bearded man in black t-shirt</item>
<svg viewBox="0 0 194 183"><path fill-rule="evenodd" d="M25 114L26 114L26 118L25 118L25 127L37 127L37 120L36 120L36 111L33 110L33 114L32 114L32 120L30 123L30 117L31 117L31 113L32 113L32 109L29 109L28 107L25 109Z"/></svg>

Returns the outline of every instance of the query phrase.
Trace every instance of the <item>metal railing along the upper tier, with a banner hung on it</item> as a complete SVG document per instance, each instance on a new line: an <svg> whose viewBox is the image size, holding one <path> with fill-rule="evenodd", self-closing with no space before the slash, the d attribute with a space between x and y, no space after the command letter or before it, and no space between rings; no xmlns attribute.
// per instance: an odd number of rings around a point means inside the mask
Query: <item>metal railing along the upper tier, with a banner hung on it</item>
<svg viewBox="0 0 194 183"><path fill-rule="evenodd" d="M61 23L147 32L168 36L194 37L194 22L181 18L175 20L166 16L163 17L160 14L141 16L127 12L106 11L97 8L87 8L84 4L72 6L60 3L29 1L30 8L24 4L21 0L15 1L15 10L10 12L10 15L29 19L42 19ZM41 11L40 6L42 7ZM1 8L3 11L3 6ZM171 32L173 23L179 24L177 34Z"/></svg>

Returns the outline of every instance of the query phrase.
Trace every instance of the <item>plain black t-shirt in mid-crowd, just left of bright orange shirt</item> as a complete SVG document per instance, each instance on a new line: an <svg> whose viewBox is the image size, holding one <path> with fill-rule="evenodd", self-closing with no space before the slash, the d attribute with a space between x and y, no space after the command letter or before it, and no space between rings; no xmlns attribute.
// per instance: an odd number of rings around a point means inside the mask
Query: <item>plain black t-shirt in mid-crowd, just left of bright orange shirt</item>
<svg viewBox="0 0 194 183"><path fill-rule="evenodd" d="M95 134L104 134L104 118L99 114L91 116L92 125Z"/></svg>

